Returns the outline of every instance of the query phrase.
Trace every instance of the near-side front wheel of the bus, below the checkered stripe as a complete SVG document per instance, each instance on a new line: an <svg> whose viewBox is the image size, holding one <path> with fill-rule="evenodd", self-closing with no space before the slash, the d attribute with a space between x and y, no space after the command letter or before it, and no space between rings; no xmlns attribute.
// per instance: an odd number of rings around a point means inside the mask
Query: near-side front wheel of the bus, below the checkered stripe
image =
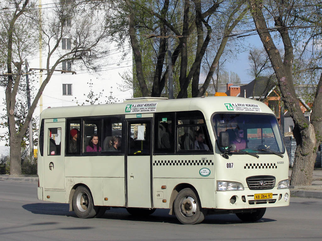
<svg viewBox="0 0 322 241"><path fill-rule="evenodd" d="M175 198L174 211L183 224L198 224L204 221L205 210L201 208L198 195L190 188L182 189Z"/></svg>

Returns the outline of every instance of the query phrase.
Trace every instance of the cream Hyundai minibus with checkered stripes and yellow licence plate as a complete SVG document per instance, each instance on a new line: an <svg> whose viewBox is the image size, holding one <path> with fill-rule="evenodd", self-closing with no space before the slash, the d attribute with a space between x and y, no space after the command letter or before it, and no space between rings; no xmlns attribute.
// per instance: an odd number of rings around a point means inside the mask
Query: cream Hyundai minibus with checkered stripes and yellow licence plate
<svg viewBox="0 0 322 241"><path fill-rule="evenodd" d="M183 224L235 213L261 219L289 205L289 159L278 120L242 97L48 108L41 113L38 199L80 218L169 209Z"/></svg>

